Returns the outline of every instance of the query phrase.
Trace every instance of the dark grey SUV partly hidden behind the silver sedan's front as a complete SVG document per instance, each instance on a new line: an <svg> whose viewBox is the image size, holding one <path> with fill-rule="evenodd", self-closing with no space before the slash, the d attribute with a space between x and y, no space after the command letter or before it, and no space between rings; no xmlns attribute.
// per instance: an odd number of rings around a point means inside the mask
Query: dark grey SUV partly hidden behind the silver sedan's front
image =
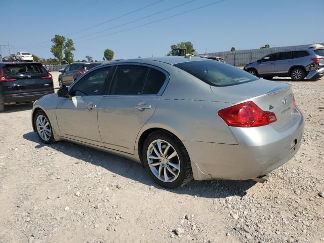
<svg viewBox="0 0 324 243"><path fill-rule="evenodd" d="M70 86L79 76L98 65L100 65L100 63L96 62L76 62L67 65L63 70L60 70L60 88L64 86Z"/></svg>

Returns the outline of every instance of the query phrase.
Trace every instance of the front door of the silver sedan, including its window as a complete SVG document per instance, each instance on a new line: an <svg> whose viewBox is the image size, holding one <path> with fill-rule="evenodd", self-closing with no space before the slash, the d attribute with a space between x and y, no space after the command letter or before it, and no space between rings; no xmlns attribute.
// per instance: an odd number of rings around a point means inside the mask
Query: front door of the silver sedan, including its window
<svg viewBox="0 0 324 243"><path fill-rule="evenodd" d="M69 88L56 108L62 137L104 146L98 129L98 107L102 100L110 67L95 69Z"/></svg>

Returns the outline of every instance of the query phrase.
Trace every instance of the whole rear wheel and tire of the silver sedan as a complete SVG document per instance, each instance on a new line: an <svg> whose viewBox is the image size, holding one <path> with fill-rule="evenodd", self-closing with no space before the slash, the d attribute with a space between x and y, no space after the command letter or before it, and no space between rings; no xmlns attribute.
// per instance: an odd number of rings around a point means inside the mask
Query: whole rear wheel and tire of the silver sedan
<svg viewBox="0 0 324 243"><path fill-rule="evenodd" d="M142 161L153 181L162 187L175 189L193 179L186 148L176 136L166 131L155 131L145 139Z"/></svg>

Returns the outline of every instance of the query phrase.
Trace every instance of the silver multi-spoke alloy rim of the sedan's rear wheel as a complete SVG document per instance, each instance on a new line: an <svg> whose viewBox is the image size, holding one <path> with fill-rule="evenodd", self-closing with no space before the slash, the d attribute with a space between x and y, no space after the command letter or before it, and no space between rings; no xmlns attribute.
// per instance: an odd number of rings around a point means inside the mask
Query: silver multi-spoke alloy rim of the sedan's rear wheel
<svg viewBox="0 0 324 243"><path fill-rule="evenodd" d="M163 182L175 181L180 173L180 159L174 147L165 140L154 140L147 149L148 166Z"/></svg>

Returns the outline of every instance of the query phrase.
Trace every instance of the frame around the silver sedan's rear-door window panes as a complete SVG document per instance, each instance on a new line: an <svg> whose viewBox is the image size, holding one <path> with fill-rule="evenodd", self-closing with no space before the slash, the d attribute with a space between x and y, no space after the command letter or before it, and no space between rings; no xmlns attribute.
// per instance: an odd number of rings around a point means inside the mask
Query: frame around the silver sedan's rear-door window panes
<svg viewBox="0 0 324 243"><path fill-rule="evenodd" d="M149 71L150 69L147 71L146 73L146 77L145 77L145 80L144 80L144 83L143 83L143 88L142 88L142 94L139 94L139 95L113 95L113 94L110 94L110 89L112 87L112 83L113 83L113 78L115 76L115 72L118 68L118 66L122 66L122 65L136 65L136 66L145 66L145 67L148 67L148 68L153 68L153 69L156 69L160 72L162 72L166 79L165 79L165 82L164 84L161 86L159 92L157 94L143 94L143 89L144 89L144 85L146 83L146 79L147 79L147 76L149 74ZM115 69L113 70L113 75L111 76L111 82L110 82L110 86L107 87L106 89L106 92L105 92L105 96L161 96L163 95L168 83L169 83L169 80L170 80L170 74L169 72L167 72L166 70L160 68L160 67L157 67L157 66L154 66L154 65L151 65L151 64L146 64L146 63L137 63L137 62L124 62L124 63L118 63L118 64L113 64L113 65L110 65L110 66L115 66Z"/></svg>

